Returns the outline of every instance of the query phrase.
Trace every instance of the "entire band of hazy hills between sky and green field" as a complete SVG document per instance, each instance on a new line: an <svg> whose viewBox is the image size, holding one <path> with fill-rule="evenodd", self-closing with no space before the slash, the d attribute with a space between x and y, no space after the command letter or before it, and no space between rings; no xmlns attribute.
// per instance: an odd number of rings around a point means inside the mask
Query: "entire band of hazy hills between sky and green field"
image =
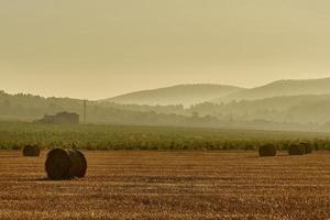
<svg viewBox="0 0 330 220"><path fill-rule="evenodd" d="M0 91L0 119L31 121L59 111L81 116L82 100ZM330 78L279 80L253 89L183 85L87 102L89 123L138 125L330 131L329 112Z"/></svg>

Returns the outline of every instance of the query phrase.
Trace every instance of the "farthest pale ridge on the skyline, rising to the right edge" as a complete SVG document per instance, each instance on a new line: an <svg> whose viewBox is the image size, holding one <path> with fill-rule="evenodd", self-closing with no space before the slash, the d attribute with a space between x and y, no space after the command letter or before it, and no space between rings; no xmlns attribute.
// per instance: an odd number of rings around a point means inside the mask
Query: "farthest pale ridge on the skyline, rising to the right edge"
<svg viewBox="0 0 330 220"><path fill-rule="evenodd" d="M280 96L300 95L327 95L330 94L330 78L304 79L304 80L278 80L272 84L244 89L226 97L215 99L215 102L229 102L232 100L255 100Z"/></svg>

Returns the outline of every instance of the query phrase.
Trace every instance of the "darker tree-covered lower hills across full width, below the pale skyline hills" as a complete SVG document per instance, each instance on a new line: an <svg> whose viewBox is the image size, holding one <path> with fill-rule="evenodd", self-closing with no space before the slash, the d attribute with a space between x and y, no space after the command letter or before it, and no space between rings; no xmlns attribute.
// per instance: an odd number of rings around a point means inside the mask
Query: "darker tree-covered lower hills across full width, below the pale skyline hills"
<svg viewBox="0 0 330 220"><path fill-rule="evenodd" d="M41 119L59 111L82 116L82 100L9 95L0 91L2 119ZM119 105L87 102L90 123L254 127L261 129L330 129L330 96L275 97L229 103L204 102L184 108L175 106Z"/></svg>

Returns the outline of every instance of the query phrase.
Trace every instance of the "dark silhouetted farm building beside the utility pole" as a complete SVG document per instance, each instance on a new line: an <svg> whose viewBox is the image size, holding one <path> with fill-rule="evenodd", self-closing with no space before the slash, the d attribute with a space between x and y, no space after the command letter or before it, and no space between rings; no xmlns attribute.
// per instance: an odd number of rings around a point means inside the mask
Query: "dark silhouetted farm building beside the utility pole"
<svg viewBox="0 0 330 220"><path fill-rule="evenodd" d="M47 116L41 119L42 123L55 123L55 124L79 124L79 114L70 112L58 112L55 116Z"/></svg>

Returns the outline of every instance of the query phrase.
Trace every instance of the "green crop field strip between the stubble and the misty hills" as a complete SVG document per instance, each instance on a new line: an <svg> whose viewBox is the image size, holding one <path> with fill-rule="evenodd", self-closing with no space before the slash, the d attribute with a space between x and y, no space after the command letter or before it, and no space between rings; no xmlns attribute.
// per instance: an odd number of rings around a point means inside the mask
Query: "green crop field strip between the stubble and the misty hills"
<svg viewBox="0 0 330 220"><path fill-rule="evenodd" d="M329 133L315 132L0 122L2 150L19 150L26 144L82 150L257 150L264 143L286 150L301 141L310 142L316 150L330 150L329 138Z"/></svg>

